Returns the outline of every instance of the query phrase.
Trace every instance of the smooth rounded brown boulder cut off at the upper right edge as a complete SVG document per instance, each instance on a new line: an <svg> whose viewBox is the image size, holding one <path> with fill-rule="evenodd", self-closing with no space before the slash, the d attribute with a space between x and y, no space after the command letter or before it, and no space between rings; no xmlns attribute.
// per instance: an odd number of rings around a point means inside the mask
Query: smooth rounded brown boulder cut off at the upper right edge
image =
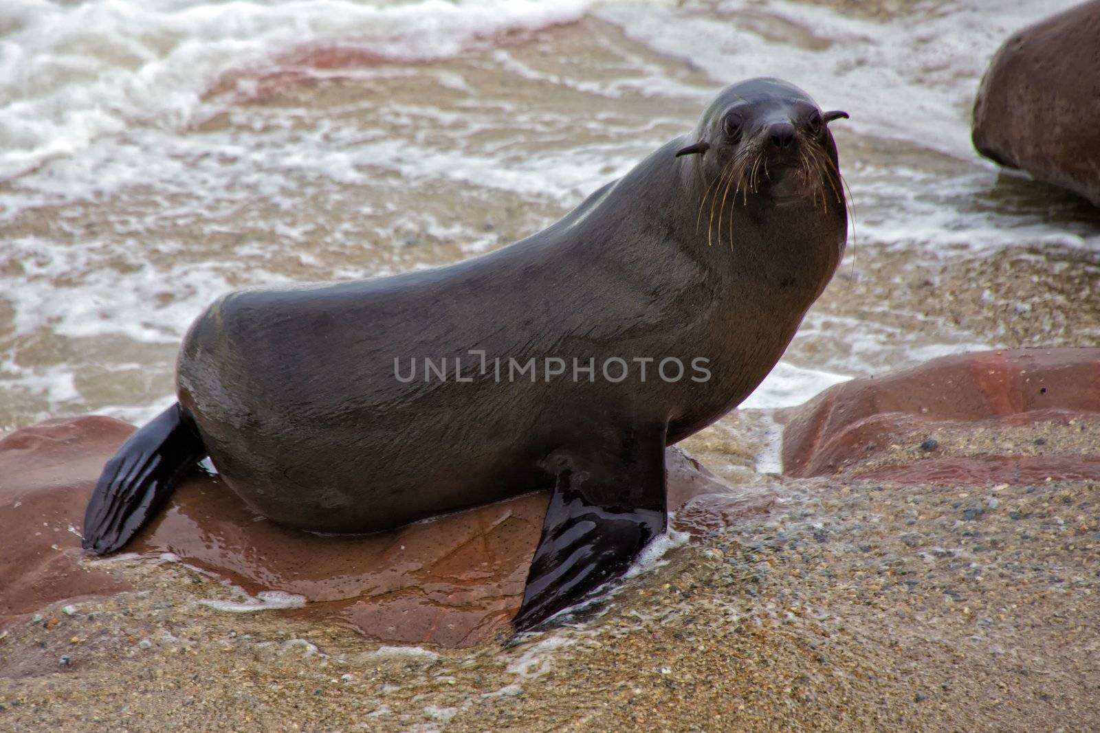
<svg viewBox="0 0 1100 733"><path fill-rule="evenodd" d="M974 107L974 145L1100 206L1100 0L1015 33Z"/></svg>

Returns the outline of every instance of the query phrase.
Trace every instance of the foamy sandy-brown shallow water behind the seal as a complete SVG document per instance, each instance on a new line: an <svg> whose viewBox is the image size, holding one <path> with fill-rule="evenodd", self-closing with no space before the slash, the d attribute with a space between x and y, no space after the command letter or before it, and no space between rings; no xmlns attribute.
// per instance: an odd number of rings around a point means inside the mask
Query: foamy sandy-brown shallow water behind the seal
<svg viewBox="0 0 1100 733"><path fill-rule="evenodd" d="M851 113L834 131L856 223L746 406L1002 345L845 298L928 262L1100 241L1087 207L969 144L989 56L1056 4L4 3L0 426L142 420L170 401L176 345L219 293L507 244L761 75ZM892 266L868 268L879 256Z"/></svg>

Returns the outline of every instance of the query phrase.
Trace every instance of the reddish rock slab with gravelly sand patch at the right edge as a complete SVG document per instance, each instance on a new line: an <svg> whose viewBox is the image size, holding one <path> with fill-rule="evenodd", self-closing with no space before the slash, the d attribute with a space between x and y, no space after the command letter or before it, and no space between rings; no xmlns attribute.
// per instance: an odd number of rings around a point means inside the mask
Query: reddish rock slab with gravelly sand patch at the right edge
<svg viewBox="0 0 1100 733"><path fill-rule="evenodd" d="M780 419L783 473L792 477L845 473L937 485L1100 479L1100 441L1091 437L1100 430L1100 348L946 356L837 385ZM1038 438L1027 454L990 437L1040 425L1069 437L1062 446ZM915 447L937 432L956 440Z"/></svg>

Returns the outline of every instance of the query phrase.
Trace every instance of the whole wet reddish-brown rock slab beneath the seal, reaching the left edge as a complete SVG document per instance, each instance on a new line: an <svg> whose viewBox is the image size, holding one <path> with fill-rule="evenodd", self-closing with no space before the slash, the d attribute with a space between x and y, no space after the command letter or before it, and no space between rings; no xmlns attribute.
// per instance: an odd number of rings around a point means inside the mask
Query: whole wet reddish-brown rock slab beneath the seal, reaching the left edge
<svg viewBox="0 0 1100 733"><path fill-rule="evenodd" d="M132 431L91 417L0 440L0 623L50 602L127 588L78 562L76 530L103 463ZM669 448L668 470L672 509L715 492L732 493L713 507L711 521L716 512L732 518L769 506L733 492L676 448ZM546 502L546 493L530 493L393 532L322 536L257 517L217 477L197 474L125 549L172 553L250 593L306 599L280 613L336 618L384 641L459 646L493 635L518 610Z"/></svg>

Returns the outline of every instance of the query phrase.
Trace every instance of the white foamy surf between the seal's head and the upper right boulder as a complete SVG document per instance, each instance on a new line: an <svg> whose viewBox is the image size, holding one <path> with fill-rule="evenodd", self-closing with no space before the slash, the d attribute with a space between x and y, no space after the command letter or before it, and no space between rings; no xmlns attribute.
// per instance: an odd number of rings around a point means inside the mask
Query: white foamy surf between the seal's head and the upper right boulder
<svg viewBox="0 0 1100 733"><path fill-rule="evenodd" d="M884 19L783 0L686 3L686 13L660 4L595 12L717 82L789 79L826 108L851 113L845 126L970 159L970 108L989 57L1013 31L1074 4L914 3Z"/></svg>

